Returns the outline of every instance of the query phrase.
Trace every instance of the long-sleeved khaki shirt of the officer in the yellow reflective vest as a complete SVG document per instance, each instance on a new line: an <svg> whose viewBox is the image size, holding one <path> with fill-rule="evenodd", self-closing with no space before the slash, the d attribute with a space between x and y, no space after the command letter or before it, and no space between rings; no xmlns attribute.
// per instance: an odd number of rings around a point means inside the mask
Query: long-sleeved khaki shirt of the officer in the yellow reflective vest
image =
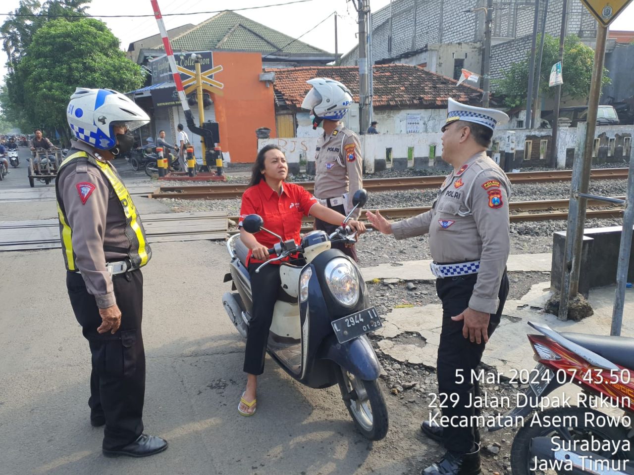
<svg viewBox="0 0 634 475"><path fill-rule="evenodd" d="M72 141L72 146L100 160L94 156L93 149L83 143ZM97 307L111 307L116 301L106 263L126 259L130 248L125 233L126 215L119 198L105 175L86 158L63 167L56 180L68 225L73 231L77 269L86 282L88 293L94 295ZM94 185L85 204L77 188L83 182Z"/></svg>

